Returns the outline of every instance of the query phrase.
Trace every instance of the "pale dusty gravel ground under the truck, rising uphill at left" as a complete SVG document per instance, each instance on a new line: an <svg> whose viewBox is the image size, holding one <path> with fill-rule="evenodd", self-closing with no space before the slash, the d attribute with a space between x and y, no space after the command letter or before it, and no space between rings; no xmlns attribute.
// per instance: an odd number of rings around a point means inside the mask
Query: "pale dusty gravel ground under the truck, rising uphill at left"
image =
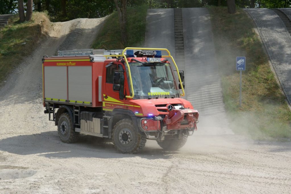
<svg viewBox="0 0 291 194"><path fill-rule="evenodd" d="M1 88L0 193L291 192L290 142L200 131L177 152L148 140L136 155L85 135L62 143L43 114L41 58L58 48L89 48L103 20L52 24L47 41Z"/></svg>

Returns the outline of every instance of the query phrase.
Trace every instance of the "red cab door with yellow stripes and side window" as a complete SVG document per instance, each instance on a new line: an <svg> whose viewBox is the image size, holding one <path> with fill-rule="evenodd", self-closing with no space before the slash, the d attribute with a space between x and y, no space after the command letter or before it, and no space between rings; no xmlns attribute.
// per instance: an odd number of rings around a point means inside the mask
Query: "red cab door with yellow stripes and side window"
<svg viewBox="0 0 291 194"><path fill-rule="evenodd" d="M105 65L103 72L103 110L112 111L114 108L124 108L125 72L123 64L110 62Z"/></svg>

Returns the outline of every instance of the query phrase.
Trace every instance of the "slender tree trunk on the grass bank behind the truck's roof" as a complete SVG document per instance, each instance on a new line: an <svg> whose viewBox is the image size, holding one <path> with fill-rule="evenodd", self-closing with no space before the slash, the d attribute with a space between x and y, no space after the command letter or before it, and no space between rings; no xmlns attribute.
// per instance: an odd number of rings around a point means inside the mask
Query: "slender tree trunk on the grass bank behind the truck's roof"
<svg viewBox="0 0 291 194"><path fill-rule="evenodd" d="M127 0L114 0L117 12L118 12L118 20L121 31L121 42L123 45L127 43L127 32L126 32L126 23L127 23L127 12L126 12L126 4Z"/></svg>

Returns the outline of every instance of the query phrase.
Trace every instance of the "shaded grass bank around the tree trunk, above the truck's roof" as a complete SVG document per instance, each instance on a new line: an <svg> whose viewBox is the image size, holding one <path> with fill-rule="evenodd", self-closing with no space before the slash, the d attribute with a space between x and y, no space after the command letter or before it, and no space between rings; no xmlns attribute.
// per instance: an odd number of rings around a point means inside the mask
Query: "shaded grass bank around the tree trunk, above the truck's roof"
<svg viewBox="0 0 291 194"><path fill-rule="evenodd" d="M127 44L121 43L118 13L114 12L105 21L95 41L94 49L123 49L125 47L141 47L145 38L145 18L148 5L127 8Z"/></svg>

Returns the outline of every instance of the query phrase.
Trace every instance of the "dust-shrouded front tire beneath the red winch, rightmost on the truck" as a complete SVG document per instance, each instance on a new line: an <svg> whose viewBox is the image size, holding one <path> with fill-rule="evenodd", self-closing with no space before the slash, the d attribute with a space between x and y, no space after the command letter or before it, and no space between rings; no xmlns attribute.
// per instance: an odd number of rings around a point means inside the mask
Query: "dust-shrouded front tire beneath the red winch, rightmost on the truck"
<svg viewBox="0 0 291 194"><path fill-rule="evenodd" d="M165 137L164 141L157 141L157 143L159 144L159 146L161 146L161 148L163 148L164 150L169 150L169 151L175 151L175 150L179 150L180 148L182 148L185 143L187 142L187 136L182 136L182 138L180 139L170 139Z"/></svg>

